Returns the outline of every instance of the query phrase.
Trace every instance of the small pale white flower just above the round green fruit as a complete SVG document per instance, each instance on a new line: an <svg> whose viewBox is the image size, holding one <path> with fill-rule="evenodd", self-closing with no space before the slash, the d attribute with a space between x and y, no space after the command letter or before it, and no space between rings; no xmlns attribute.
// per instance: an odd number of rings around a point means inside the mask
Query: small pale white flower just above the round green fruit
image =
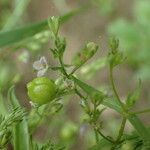
<svg viewBox="0 0 150 150"><path fill-rule="evenodd" d="M37 77L43 76L48 69L46 58L42 56L39 60L35 61L33 63L33 68L37 71Z"/></svg>

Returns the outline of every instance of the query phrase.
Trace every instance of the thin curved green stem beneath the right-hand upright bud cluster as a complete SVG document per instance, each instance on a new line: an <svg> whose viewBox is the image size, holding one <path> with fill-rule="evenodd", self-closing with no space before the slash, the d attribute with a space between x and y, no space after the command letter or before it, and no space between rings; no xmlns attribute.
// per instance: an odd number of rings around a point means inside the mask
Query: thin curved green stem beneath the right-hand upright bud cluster
<svg viewBox="0 0 150 150"><path fill-rule="evenodd" d="M113 69L112 69L111 66L110 66L110 68L109 68L109 71L110 71L110 82L111 82L111 85L112 85L112 89L113 89L113 91L114 91L114 94L115 94L115 96L116 96L116 98L117 98L117 100L118 100L120 106L121 106L122 109L124 110L124 112L127 112L125 106L124 106L123 103L121 102L121 99L120 99L120 97L119 97L119 95L118 95L118 93L117 93L117 90L116 90L116 87L115 87L115 83L114 83L114 79L113 79Z"/></svg>

